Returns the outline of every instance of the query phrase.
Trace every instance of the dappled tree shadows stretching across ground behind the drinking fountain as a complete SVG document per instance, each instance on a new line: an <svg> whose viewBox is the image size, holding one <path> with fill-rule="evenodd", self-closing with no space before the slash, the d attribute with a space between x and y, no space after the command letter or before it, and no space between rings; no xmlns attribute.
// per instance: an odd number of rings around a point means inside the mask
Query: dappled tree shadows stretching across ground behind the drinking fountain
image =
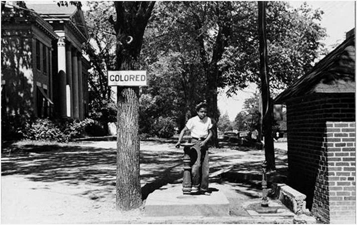
<svg viewBox="0 0 357 225"><path fill-rule="evenodd" d="M159 143L150 142L148 146L152 147L155 144ZM232 161L244 156L242 154L211 155L210 160L219 162L219 165L211 167L210 172L231 165ZM181 182L182 158L183 153L179 150L155 151L144 147L140 151L143 199L168 183ZM278 173L286 173L286 159L277 160L276 163ZM255 198L258 196L254 191L261 189L260 171L261 160L241 163L235 165L229 172L212 177L210 182L229 182L236 187L237 192ZM115 190L116 180L116 149L79 145L5 144L2 147L2 175L11 174L26 175L26 178L33 181L97 185L101 187L101 191L112 193ZM279 179L282 181L284 175Z"/></svg>

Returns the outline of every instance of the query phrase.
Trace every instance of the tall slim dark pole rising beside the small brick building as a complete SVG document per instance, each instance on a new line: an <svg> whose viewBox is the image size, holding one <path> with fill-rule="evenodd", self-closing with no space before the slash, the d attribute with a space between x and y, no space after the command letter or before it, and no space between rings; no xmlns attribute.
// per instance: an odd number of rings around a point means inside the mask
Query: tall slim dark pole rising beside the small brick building
<svg viewBox="0 0 357 225"><path fill-rule="evenodd" d="M258 1L258 34L260 55L260 79L262 96L262 132L264 135L265 160L267 170L275 169L274 142L272 137L272 99L269 92L269 76L267 67L267 46L265 32L265 8L267 1Z"/></svg>

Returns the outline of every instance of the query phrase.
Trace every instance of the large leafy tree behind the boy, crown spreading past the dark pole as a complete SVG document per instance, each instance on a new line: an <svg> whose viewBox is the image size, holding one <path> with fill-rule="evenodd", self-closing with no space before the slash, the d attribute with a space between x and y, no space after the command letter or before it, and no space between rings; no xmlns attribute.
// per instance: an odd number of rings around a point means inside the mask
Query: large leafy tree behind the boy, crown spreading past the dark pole
<svg viewBox="0 0 357 225"><path fill-rule="evenodd" d="M218 121L219 87L229 87L227 94L232 94L249 82L260 86L257 12L252 1L160 2L152 18L156 35L147 45L150 60L158 60L153 55L181 52L182 63L194 64L199 71L192 74L204 86L201 95L210 106L209 116ZM325 35L318 24L321 13L306 5L292 9L286 2L268 2L268 66L273 87L285 87L311 67Z"/></svg>

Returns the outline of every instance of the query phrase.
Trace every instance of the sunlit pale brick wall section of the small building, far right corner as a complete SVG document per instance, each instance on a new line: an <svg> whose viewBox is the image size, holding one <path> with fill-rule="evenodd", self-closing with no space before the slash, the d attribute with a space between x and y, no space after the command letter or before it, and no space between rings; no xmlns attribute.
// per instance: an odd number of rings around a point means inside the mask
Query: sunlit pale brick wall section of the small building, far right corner
<svg viewBox="0 0 357 225"><path fill-rule="evenodd" d="M326 122L330 223L355 223L355 122Z"/></svg>

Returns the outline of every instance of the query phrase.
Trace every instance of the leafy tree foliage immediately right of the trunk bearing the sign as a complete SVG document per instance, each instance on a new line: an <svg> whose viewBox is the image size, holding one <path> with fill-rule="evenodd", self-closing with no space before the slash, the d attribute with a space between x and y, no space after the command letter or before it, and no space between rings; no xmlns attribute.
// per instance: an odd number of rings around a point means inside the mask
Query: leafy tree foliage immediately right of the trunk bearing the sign
<svg viewBox="0 0 357 225"><path fill-rule="evenodd" d="M198 60L195 35L176 23L186 3L169 2L169 8L166 3L158 3L146 30L143 59L152 74L153 85L143 91L159 95L176 93L176 121L183 128L185 121L195 115L195 105L205 99L206 78Z"/></svg>

